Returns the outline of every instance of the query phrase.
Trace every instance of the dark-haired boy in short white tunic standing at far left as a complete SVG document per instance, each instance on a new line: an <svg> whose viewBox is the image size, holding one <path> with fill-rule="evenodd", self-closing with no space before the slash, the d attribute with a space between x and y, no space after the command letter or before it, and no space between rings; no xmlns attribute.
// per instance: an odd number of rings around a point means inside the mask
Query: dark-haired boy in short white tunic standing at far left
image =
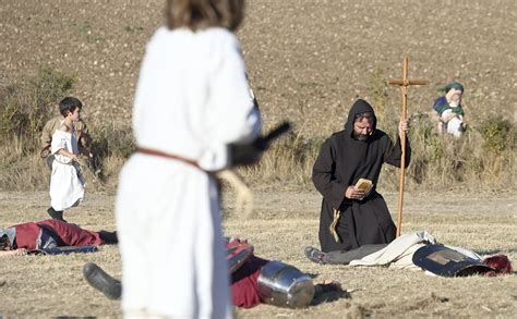
<svg viewBox="0 0 517 319"><path fill-rule="evenodd" d="M52 219L64 221L63 211L77 206L84 199L85 180L77 163L77 138L73 122L81 116L82 103L79 99L67 97L60 102L63 120L52 134L50 145L55 155L50 175L50 208L47 212Z"/></svg>

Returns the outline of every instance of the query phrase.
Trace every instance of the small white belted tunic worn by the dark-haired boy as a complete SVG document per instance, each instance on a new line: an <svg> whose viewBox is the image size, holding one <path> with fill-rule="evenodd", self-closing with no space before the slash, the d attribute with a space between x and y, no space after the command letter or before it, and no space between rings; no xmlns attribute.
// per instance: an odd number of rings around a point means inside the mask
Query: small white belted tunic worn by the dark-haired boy
<svg viewBox="0 0 517 319"><path fill-rule="evenodd" d="M77 138L73 132L56 130L50 147L56 156L50 175L50 206L56 210L65 210L83 200L85 182L77 173L76 163L57 151L65 149L71 154L77 154Z"/></svg>

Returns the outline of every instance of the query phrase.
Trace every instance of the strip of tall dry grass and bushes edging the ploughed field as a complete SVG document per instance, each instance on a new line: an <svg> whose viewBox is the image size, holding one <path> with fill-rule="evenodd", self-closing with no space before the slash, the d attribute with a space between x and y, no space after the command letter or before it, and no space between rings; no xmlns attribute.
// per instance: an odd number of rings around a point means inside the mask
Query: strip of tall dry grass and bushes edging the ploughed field
<svg viewBox="0 0 517 319"><path fill-rule="evenodd" d="M396 108L386 107L384 77L382 71L374 73L370 99L378 108L380 126L394 135L398 116L392 114ZM74 81L74 76L44 69L25 85L0 88L1 189L47 189L49 172L39 158L39 135L45 121L57 113L57 101L70 94ZM408 189L515 189L515 124L473 106L469 111L469 130L459 139L437 135L429 112L409 112L412 159L407 171ZM85 113L88 114L87 106ZM95 154L84 164L88 189L115 191L118 173L134 149L131 127L95 113L85 121L94 138ZM255 187L313 189L312 165L330 132L328 127L316 127L321 135L309 134L314 130L308 130L308 123L294 123L294 130L276 142L258 164L240 169L247 183ZM396 191L397 181L397 169L385 167L378 187Z"/></svg>

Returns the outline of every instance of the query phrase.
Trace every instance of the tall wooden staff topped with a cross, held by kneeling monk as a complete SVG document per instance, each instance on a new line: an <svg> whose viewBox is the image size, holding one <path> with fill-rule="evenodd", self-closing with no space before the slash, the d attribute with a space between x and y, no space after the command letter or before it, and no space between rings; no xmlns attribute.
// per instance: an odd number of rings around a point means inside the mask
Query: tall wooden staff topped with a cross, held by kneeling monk
<svg viewBox="0 0 517 319"><path fill-rule="evenodd" d="M402 94L402 121L408 118L408 86L410 85L425 85L428 84L424 79L409 79L408 78L409 58L405 57L402 61L402 78L401 79L389 79L389 85L398 85L400 93ZM398 188L398 212L397 212L397 237L400 236L402 228L402 200L404 200L404 177L406 173L406 132L400 133L400 145L402 148L402 158L400 159L400 185Z"/></svg>

